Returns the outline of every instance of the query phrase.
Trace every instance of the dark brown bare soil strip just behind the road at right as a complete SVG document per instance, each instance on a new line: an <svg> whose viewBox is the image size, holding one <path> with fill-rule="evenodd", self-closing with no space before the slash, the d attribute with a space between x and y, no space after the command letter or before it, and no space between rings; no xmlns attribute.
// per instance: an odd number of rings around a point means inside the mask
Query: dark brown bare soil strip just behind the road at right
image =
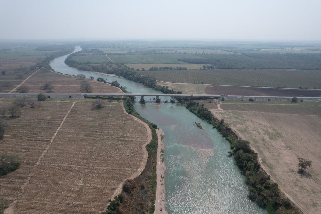
<svg viewBox="0 0 321 214"><path fill-rule="evenodd" d="M244 96L321 97L321 90L319 89L281 89L228 85L209 85L205 88L205 93Z"/></svg>

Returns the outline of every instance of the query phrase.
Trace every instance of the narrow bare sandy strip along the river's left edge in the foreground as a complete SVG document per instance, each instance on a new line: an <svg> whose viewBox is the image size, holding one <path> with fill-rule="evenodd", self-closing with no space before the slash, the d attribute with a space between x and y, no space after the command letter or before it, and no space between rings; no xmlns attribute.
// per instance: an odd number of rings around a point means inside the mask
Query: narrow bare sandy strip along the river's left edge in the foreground
<svg viewBox="0 0 321 214"><path fill-rule="evenodd" d="M157 186L156 186L156 200L155 200L155 211L154 214L168 213L165 210L165 181L164 176L166 174L166 166L164 162L164 131L162 129L156 129L158 138L158 149L157 149Z"/></svg>

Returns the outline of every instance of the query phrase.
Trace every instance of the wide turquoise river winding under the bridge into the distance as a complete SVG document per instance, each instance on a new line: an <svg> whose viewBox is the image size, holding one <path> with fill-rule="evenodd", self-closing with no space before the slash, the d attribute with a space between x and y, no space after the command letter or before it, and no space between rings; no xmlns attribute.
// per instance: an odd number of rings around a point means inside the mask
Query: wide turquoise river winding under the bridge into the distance
<svg viewBox="0 0 321 214"><path fill-rule="evenodd" d="M80 51L76 47L75 51ZM85 74L117 80L133 93L159 93L140 83L94 72L80 71L64 63L68 55L57 57L50 65L64 74ZM164 131L166 209L169 213L267 213L248 198L248 186L233 157L230 144L216 129L185 107L171 103L156 104L145 97L136 98L135 108ZM166 99L166 98L162 98ZM169 98L168 98L169 100ZM201 123L204 130L194 126Z"/></svg>

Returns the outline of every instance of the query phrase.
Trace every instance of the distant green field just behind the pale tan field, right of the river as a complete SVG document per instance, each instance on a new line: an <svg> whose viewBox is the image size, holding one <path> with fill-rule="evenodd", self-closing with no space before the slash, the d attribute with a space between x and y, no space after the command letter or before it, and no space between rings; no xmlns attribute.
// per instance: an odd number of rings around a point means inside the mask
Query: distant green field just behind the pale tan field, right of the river
<svg viewBox="0 0 321 214"><path fill-rule="evenodd" d="M117 63L125 64L185 64L178 59L202 58L202 56L194 54L110 54L108 56Z"/></svg>

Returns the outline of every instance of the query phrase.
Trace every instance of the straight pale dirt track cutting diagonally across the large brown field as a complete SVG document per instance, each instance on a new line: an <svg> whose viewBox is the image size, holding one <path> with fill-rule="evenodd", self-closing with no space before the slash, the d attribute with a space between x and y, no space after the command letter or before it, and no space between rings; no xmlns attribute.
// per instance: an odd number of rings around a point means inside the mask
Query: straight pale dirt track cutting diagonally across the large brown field
<svg viewBox="0 0 321 214"><path fill-rule="evenodd" d="M40 70L40 69L39 69L39 70ZM28 183L29 183L29 181L30 181L30 179L31 179L31 177L32 177L32 175L33 175L33 171L35 170L35 168L37 167L37 165L40 164L42 158L43 158L43 157L45 156L45 154L47 153L47 151L48 151L51 143L54 141L54 139L55 139L58 131L60 130L61 126L64 124L67 116L69 115L71 109L74 107L75 103L76 103L76 102L73 102L73 104L72 104L71 107L69 108L68 112L66 113L64 119L61 121L60 125L58 126L56 132L55 132L54 135L52 136L49 144L47 145L47 147L45 148L45 150L43 150L41 156L38 158L38 161L36 162L36 164L35 164L35 165L33 166L33 168L31 169L31 171L30 171L30 173L29 173L29 175L28 175L25 183L23 184L23 186L22 186L22 188L21 188L21 190L20 190L20 193L18 194L17 198L9 205L9 207L8 207L6 210L4 210L4 213L5 213L5 214L11 214L11 213L13 213L13 206L14 206L15 203L19 200L19 197L22 195L22 193L23 193L23 191L24 191L24 188L28 185Z"/></svg>

